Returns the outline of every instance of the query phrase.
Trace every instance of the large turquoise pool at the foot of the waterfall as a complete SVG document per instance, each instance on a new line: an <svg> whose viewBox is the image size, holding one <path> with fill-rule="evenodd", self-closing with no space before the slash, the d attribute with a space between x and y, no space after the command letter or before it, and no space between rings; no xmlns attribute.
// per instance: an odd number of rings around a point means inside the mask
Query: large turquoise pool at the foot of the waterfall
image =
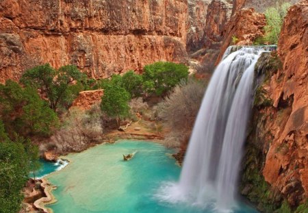
<svg viewBox="0 0 308 213"><path fill-rule="evenodd" d="M123 154L136 155L129 162ZM179 179L181 168L162 145L123 140L68 155L70 164L47 178L57 186L55 213L189 213L215 212L184 203L166 203L157 195L167 182ZM236 213L255 210L243 206Z"/></svg>

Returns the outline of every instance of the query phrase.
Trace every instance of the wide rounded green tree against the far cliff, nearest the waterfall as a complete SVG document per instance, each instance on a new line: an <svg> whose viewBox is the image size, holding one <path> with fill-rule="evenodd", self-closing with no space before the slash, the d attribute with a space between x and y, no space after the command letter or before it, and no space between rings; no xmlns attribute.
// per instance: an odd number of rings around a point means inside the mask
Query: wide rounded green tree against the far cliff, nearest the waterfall
<svg viewBox="0 0 308 213"><path fill-rule="evenodd" d="M144 88L149 93L166 95L181 79L188 78L188 66L172 62L156 62L144 66Z"/></svg>

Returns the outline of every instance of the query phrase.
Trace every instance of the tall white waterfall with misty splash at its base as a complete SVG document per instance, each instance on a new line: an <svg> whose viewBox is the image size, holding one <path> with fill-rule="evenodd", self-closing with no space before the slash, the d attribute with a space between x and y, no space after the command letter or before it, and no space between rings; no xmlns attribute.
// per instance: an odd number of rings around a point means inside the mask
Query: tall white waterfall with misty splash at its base
<svg viewBox="0 0 308 213"><path fill-rule="evenodd" d="M162 200L190 203L211 212L240 209L238 175L253 102L255 64L272 47L234 48L227 49L211 78L180 180L162 186L158 193Z"/></svg>

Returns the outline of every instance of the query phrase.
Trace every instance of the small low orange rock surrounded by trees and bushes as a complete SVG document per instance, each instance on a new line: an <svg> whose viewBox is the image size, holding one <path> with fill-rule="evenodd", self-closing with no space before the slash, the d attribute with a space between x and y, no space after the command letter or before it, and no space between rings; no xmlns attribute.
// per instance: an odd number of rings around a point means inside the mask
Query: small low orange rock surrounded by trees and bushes
<svg viewBox="0 0 308 213"><path fill-rule="evenodd" d="M88 90L79 92L78 97L73 101L71 108L77 107L82 110L90 110L92 105L101 103L103 90Z"/></svg>

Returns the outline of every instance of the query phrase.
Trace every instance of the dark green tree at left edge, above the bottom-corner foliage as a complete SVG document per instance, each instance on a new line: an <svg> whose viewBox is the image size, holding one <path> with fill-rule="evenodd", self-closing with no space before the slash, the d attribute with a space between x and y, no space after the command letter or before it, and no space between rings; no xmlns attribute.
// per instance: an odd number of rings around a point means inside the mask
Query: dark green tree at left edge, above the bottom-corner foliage
<svg viewBox="0 0 308 213"><path fill-rule="evenodd" d="M59 124L57 115L34 88L22 88L8 80L0 85L0 116L10 133L49 135Z"/></svg>

